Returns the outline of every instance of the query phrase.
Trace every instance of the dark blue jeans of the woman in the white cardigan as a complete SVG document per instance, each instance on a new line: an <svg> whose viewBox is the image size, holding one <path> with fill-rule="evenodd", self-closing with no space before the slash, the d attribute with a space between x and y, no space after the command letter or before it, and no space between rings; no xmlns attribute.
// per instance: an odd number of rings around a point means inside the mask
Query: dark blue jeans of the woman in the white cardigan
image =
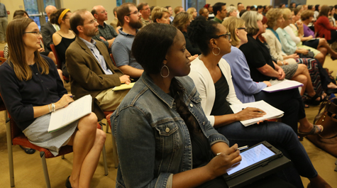
<svg viewBox="0 0 337 188"><path fill-rule="evenodd" d="M299 175L308 178L317 176L317 172L314 169L309 156L306 154L303 145L299 143L296 133L284 123L265 122L260 123L260 125L254 124L245 127L237 121L227 126L216 128L216 130L223 134L223 136L226 136L230 145L237 143L239 147L243 145L253 146L266 140L292 160L294 168ZM298 185L297 187L303 187L297 172L291 172L291 170L287 171L287 179L292 179L291 182L297 182L294 183ZM289 173L292 173L292 175L289 175ZM294 179L294 177L296 177L294 174L297 174L296 179ZM298 182L302 184L302 186L299 185Z"/></svg>

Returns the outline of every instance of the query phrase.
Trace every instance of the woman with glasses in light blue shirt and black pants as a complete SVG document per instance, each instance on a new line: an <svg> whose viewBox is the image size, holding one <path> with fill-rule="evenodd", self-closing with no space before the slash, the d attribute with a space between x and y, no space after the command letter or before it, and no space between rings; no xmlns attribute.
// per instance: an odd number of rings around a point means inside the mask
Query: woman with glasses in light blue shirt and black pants
<svg viewBox="0 0 337 188"><path fill-rule="evenodd" d="M299 136L306 135L305 132L314 134L315 131L312 131L312 133L310 131L315 127L321 129L320 126L309 123L306 118L299 89L267 93L263 92L262 89L269 87L270 82L254 82L250 77L250 69L245 60L245 55L239 49L241 45L248 42L245 21L240 18L228 18L228 20L223 21L223 26L228 28L229 32L235 33L231 38L231 52L223 55L223 59L231 66L231 76L238 99L243 103L264 100L275 108L284 111L282 123L292 127L294 132L297 133L297 122L299 122ZM310 79L309 72L307 70L303 72L305 69L306 65L299 65L299 69L293 77L307 76Z"/></svg>

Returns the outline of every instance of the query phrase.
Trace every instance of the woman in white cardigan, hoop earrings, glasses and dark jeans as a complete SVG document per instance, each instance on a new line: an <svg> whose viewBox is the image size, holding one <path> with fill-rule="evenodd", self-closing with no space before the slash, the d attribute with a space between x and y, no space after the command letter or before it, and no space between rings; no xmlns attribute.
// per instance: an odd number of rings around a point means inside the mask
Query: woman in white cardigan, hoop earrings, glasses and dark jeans
<svg viewBox="0 0 337 188"><path fill-rule="evenodd" d="M256 15L256 12L255 12ZM255 17L256 18L256 17ZM294 168L284 170L284 178L301 187L299 174L311 177L313 187L329 187L317 175L309 156L292 128L284 123L264 122L248 127L239 121L262 116L260 109L246 108L233 114L230 104L241 104L236 98L231 68L221 58L231 52L231 33L215 21L197 18L188 28L189 38L199 45L201 55L191 62L191 77L201 97L201 106L211 125L226 136L231 145L254 145L267 140L283 151L294 162ZM258 113L260 111L260 113ZM298 172L297 172L298 171Z"/></svg>

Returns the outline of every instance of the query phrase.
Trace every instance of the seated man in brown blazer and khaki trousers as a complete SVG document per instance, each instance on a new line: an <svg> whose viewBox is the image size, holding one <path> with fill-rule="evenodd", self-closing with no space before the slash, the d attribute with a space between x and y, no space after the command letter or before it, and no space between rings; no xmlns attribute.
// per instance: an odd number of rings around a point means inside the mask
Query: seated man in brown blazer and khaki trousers
<svg viewBox="0 0 337 188"><path fill-rule="evenodd" d="M92 39L99 33L98 26L89 11L75 11L70 18L70 27L77 38L67 48L65 56L74 98L92 95L92 111L101 120L103 111L114 111L128 92L114 92L112 88L131 81L111 62L104 43Z"/></svg>

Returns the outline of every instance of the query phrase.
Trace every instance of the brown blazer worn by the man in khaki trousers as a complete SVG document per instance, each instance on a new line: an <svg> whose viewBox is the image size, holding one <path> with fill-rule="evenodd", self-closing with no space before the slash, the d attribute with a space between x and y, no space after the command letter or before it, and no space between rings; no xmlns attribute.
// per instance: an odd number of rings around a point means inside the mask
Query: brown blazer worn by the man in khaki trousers
<svg viewBox="0 0 337 188"><path fill-rule="evenodd" d="M104 43L96 40L96 48L103 55L106 66L114 74L104 73L91 50L79 37L67 48L65 63L70 74L71 92L76 96L74 99L90 94L94 100L92 111L101 120L101 118L104 118L104 113L96 104L95 97L104 89L112 89L112 87L121 85L119 77L123 75L123 72L112 63Z"/></svg>

